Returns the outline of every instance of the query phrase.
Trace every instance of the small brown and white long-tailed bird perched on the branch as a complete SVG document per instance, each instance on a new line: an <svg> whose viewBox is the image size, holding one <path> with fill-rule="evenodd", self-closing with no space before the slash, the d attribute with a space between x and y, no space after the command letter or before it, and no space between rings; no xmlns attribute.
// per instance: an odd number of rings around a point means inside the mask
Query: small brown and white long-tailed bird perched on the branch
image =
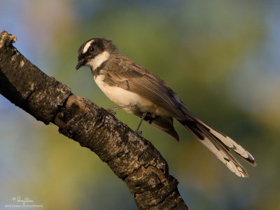
<svg viewBox="0 0 280 210"><path fill-rule="evenodd" d="M99 88L118 107L141 118L137 130L145 120L179 141L174 119L192 133L237 176L248 177L232 153L255 166L253 156L236 141L215 130L191 113L179 96L158 76L125 55L106 38L91 38L78 49L78 64L89 66Z"/></svg>

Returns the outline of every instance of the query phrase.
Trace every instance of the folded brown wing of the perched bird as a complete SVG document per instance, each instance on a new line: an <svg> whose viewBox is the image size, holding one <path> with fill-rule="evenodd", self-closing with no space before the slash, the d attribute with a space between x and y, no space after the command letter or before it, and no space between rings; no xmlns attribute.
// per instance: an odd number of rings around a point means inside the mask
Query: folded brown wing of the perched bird
<svg viewBox="0 0 280 210"><path fill-rule="evenodd" d="M169 111L175 118L183 117L178 109L179 103L174 98L174 91L160 78L125 57L119 59L114 64L106 64L106 83L139 94Z"/></svg>

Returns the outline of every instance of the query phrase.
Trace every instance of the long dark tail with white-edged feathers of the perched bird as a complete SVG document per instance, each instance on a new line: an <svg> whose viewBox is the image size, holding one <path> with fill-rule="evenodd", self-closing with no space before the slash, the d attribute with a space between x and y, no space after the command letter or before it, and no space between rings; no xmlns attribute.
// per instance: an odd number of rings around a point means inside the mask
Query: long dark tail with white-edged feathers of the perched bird
<svg viewBox="0 0 280 210"><path fill-rule="evenodd" d="M209 150L216 155L216 157L221 160L230 171L237 174L237 176L248 177L248 173L240 165L240 163L235 159L235 157L230 153L230 151L235 151L241 158L244 158L252 166L256 166L255 159L253 156L237 144L234 140L227 137L225 134L214 130L214 128L203 123L200 119L193 116L186 108L183 107L184 113L188 120L179 120L179 122L186 127L187 130L192 132L195 137L202 142Z"/></svg>

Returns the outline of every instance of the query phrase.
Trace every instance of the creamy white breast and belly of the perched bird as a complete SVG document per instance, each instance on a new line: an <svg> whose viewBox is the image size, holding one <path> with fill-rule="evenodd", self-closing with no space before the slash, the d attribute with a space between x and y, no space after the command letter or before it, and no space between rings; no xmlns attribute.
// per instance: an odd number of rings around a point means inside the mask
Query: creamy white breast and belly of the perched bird
<svg viewBox="0 0 280 210"><path fill-rule="evenodd" d="M104 83L104 75L94 76L95 83L98 87L106 94L107 97L118 106L127 106L127 105L138 105L140 107L149 107L153 106L151 102L143 97L140 97L139 94L124 90L123 88L110 86ZM130 111L125 109L125 111Z"/></svg>

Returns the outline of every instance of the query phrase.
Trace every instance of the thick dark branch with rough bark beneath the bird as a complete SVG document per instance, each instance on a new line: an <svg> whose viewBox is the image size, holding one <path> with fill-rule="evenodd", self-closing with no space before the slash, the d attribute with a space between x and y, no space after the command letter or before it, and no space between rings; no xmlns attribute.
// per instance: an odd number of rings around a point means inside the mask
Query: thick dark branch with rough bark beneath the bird
<svg viewBox="0 0 280 210"><path fill-rule="evenodd" d="M0 93L45 125L96 153L127 184L139 209L188 209L154 146L111 113L31 64L0 34Z"/></svg>

